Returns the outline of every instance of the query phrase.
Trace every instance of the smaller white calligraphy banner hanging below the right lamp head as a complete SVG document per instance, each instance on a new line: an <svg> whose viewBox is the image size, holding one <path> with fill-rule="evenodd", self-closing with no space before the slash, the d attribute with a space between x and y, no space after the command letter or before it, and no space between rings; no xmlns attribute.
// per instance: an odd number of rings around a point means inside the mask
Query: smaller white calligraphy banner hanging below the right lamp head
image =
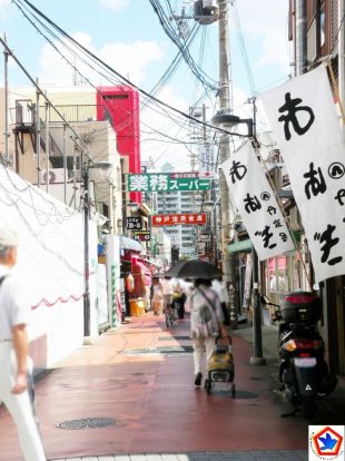
<svg viewBox="0 0 345 461"><path fill-rule="evenodd" d="M294 248L277 200L249 143L221 164L229 190L260 261Z"/></svg>

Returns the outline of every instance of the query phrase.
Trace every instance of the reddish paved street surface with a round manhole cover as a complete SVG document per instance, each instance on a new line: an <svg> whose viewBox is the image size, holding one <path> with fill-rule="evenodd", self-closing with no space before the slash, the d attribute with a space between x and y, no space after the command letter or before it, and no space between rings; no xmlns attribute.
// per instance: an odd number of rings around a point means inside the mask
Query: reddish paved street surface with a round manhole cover
<svg viewBox="0 0 345 461"><path fill-rule="evenodd" d="M194 386L188 326L185 320L166 330L150 314L132 318L41 377L37 412L49 460L306 460L306 422L282 418L289 406L277 391L275 332L263 332L266 366L249 364L250 328L233 333L233 399L220 386L210 395ZM341 423L344 401L339 386L313 423ZM21 461L4 409L0 448L0 461Z"/></svg>

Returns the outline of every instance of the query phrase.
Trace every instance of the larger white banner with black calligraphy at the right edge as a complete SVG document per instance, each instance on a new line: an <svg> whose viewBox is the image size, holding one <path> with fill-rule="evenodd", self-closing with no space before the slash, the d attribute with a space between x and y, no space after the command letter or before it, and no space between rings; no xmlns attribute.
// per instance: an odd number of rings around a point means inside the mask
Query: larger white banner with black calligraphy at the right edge
<svg viewBox="0 0 345 461"><path fill-rule="evenodd" d="M315 281L345 274L345 146L325 66L262 99L299 208Z"/></svg>

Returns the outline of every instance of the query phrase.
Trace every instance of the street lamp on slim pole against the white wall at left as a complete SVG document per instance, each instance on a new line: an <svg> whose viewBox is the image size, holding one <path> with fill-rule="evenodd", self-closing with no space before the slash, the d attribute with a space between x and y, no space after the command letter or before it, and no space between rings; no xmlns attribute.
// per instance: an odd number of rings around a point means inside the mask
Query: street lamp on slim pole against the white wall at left
<svg viewBox="0 0 345 461"><path fill-rule="evenodd" d="M89 177L90 169L102 171L106 177L112 167L110 161L98 161L96 164L87 163L81 168L83 180L83 336L90 336L90 248L89 248L89 219L90 219L90 197L89 197Z"/></svg>

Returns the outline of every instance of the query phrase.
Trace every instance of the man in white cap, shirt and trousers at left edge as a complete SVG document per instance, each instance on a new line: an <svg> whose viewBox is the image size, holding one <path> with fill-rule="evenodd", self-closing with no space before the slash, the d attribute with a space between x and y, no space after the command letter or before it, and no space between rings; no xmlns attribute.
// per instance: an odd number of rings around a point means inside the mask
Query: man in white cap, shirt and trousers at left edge
<svg viewBox="0 0 345 461"><path fill-rule="evenodd" d="M0 228L0 400L18 428L26 461L46 461L34 415L32 362L28 357L30 306L22 284L11 274L17 234Z"/></svg>

